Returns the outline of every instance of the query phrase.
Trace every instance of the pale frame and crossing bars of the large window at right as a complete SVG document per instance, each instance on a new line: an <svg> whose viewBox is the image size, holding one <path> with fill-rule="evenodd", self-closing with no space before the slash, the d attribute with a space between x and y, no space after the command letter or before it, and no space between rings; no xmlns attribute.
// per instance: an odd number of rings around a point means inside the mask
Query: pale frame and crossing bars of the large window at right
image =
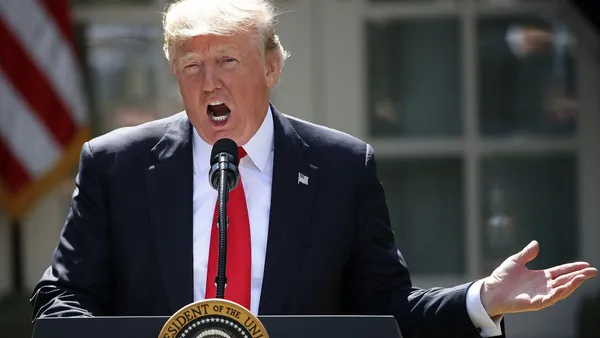
<svg viewBox="0 0 600 338"><path fill-rule="evenodd" d="M479 94L478 88L478 20L491 15L536 15L557 17L564 13L559 2L531 1L519 4L518 7L497 7L480 3L478 0L460 0L456 2L397 2L371 3L369 0L323 1L320 7L321 20L326 20L323 26L324 43L328 46L323 52L323 69L316 83L322 84L322 90L327 94L322 106L326 107L326 117L322 120L328 126L349 132L369 142L376 150L376 156L386 158L445 158L458 157L464 163L464 214L465 214L465 266L466 274L461 276L448 275L415 275L415 284L439 285L445 281L449 285L483 277L481 270L483 257L481 242L482 207L480 206L482 184L481 163L485 156L491 154L528 155L528 154L561 154L569 153L576 157L580 155L581 126L576 128L572 136L531 136L526 138L485 137L479 133ZM343 17L336 13L344 12ZM384 137L371 138L368 130L366 109L366 55L364 24L371 20L436 18L458 16L460 22L460 39L462 41L461 66L462 76L462 107L463 133L459 137ZM560 16L561 17L561 16ZM568 17L568 16L567 16ZM353 39L351 38L353 37ZM336 52L337 51L337 52ZM339 55L344 55L340 61ZM582 51L576 51L576 60L581 60ZM356 71L358 69L358 71ZM586 79L584 66L578 64L578 86ZM589 81L589 79L587 80ZM343 88L340 88L343 83ZM579 94L579 100L589 100L584 93ZM342 100L343 98L343 100ZM588 114L589 110L581 114ZM580 123L580 121L578 121ZM589 179L589 178L587 178ZM583 178L586 180L586 178ZM581 188L581 187L578 187ZM580 189L579 189L580 190ZM581 198L578 192L577 198ZM581 216L581 215L579 215ZM579 217L581 218L581 217ZM583 222L577 224L583 227ZM580 229L581 232L585 230ZM432 284L433 283L433 284ZM442 284L444 284L442 283Z"/></svg>

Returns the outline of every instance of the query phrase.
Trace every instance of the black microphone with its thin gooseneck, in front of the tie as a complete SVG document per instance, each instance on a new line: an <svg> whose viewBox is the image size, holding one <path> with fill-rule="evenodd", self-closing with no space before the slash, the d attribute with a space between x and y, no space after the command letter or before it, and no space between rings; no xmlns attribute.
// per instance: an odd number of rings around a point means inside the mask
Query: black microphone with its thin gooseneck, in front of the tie
<svg viewBox="0 0 600 338"><path fill-rule="evenodd" d="M229 192L233 190L239 181L238 172L239 154L237 144L227 138L220 139L213 145L210 154L210 171L208 180L210 185L218 192L218 218L219 228L219 263L217 265L217 298L225 298L225 286L227 285L227 201ZM225 224L225 226L222 226ZM208 298L208 296L207 296Z"/></svg>

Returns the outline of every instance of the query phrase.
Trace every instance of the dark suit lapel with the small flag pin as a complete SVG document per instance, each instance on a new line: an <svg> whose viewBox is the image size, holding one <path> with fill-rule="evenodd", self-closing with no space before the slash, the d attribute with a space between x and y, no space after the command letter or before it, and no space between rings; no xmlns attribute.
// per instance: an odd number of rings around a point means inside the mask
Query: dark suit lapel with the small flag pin
<svg viewBox="0 0 600 338"><path fill-rule="evenodd" d="M275 110L274 162L267 253L260 314L281 313L294 273L311 234L318 168L308 162L308 145Z"/></svg>

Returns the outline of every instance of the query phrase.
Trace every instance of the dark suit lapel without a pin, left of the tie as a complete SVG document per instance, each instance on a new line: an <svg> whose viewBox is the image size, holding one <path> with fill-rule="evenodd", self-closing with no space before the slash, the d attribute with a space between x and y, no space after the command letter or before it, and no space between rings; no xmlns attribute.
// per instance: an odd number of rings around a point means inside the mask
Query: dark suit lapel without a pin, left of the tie
<svg viewBox="0 0 600 338"><path fill-rule="evenodd" d="M150 222L159 271L171 313L193 302L192 128L177 116L152 149L156 162L146 173Z"/></svg>

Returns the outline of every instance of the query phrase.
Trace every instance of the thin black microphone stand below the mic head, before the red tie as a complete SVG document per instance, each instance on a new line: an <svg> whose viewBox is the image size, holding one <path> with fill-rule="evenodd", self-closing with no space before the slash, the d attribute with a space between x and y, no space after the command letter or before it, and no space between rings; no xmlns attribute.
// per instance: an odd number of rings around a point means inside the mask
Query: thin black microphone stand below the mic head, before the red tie
<svg viewBox="0 0 600 338"><path fill-rule="evenodd" d="M227 172L219 170L219 210L217 227L219 228L219 262L217 265L217 298L225 298L225 287L227 286L227 228L229 228L229 219L227 218L227 201L229 200L229 180ZM223 226L225 225L225 226Z"/></svg>

